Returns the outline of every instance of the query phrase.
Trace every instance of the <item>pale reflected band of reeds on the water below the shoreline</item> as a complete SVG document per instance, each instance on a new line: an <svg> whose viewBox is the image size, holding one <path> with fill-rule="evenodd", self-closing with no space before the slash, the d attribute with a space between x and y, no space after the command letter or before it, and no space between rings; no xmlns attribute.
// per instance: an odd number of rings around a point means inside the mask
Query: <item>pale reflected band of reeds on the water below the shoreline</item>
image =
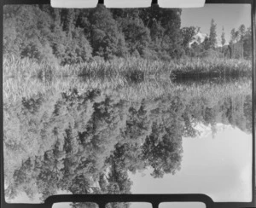
<svg viewBox="0 0 256 208"><path fill-rule="evenodd" d="M127 101L151 100L166 95L178 95L181 97L204 96L207 100L218 101L227 95L250 95L252 86L250 79L240 78L234 80L220 80L213 82L174 82L170 78L150 78L143 82L131 83L126 78L53 78L45 80L39 78L7 78L3 82L3 102L6 105L20 101L22 98L29 99L34 95L46 96L57 95L77 89L80 93L87 90L102 90L106 95L117 95L120 99ZM215 98L218 97L216 100Z"/></svg>

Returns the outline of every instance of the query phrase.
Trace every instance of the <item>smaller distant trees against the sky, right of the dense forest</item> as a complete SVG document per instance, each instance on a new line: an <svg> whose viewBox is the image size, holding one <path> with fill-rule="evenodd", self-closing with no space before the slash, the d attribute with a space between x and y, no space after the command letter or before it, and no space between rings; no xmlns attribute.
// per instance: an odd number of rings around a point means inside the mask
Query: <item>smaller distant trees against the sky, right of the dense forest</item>
<svg viewBox="0 0 256 208"><path fill-rule="evenodd" d="M236 31L233 28L230 32L230 43L226 44L224 27L220 37L220 43L217 38L217 24L212 19L210 33L201 39L200 29L195 26L181 28L183 35L183 49L186 55L191 57L229 57L236 59L249 59L252 57L252 32L251 28L244 25L239 26Z"/></svg>

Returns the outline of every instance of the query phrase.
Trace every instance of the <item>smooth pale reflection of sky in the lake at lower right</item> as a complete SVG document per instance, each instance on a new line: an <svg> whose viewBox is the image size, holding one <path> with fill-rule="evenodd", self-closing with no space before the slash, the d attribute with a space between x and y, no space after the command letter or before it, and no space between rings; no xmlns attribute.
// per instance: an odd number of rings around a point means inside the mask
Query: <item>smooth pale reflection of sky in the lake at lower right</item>
<svg viewBox="0 0 256 208"><path fill-rule="evenodd" d="M176 175L153 179L150 170L131 175L133 194L207 194L214 201L251 201L252 136L218 124L212 138L183 138L183 161ZM208 134L209 133L209 134Z"/></svg>

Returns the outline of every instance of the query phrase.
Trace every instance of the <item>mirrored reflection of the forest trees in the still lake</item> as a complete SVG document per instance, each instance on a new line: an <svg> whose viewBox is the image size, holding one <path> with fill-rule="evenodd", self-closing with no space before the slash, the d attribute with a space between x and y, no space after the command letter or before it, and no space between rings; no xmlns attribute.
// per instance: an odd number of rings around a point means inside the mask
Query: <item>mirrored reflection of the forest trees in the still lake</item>
<svg viewBox="0 0 256 208"><path fill-rule="evenodd" d="M195 124L252 129L250 95L166 95L124 101L101 90L38 95L4 108L5 194L41 199L73 194L131 194L128 171L153 169L154 177L181 168L182 137ZM15 157L19 155L19 158ZM124 206L124 205L123 205ZM73 207L83 207L76 204Z"/></svg>

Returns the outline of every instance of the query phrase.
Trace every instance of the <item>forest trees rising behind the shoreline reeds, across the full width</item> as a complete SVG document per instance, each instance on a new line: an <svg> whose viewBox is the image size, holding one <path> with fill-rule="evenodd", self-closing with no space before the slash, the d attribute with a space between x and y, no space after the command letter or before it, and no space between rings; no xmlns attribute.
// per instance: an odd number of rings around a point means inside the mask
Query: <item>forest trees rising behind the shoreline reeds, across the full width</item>
<svg viewBox="0 0 256 208"><path fill-rule="evenodd" d="M201 40L197 26L181 28L182 9L53 9L49 5L5 6L3 54L39 62L74 64L101 57L170 61L192 57L251 57L251 29L240 26L222 46L214 20ZM210 23L209 23L210 24Z"/></svg>

